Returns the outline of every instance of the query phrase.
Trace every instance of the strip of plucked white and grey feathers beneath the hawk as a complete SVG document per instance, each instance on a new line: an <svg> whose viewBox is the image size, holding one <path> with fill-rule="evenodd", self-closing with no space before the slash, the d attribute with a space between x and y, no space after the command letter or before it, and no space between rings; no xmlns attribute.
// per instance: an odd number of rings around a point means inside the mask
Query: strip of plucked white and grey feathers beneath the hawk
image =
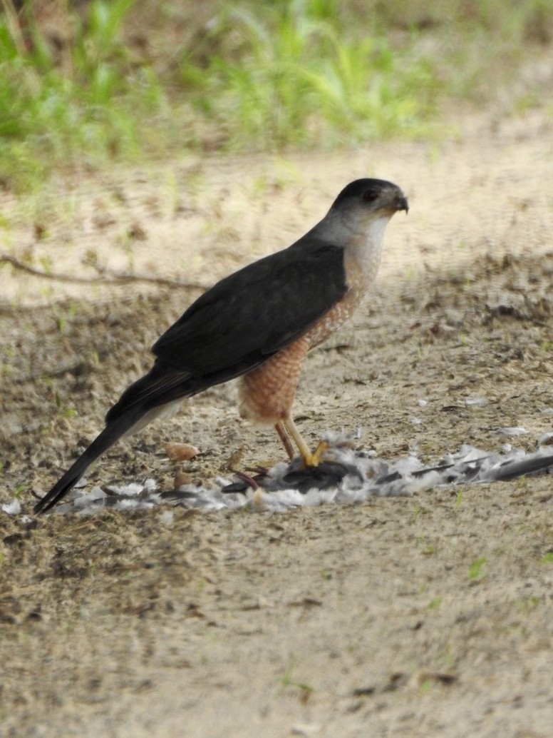
<svg viewBox="0 0 553 738"><path fill-rule="evenodd" d="M282 512L329 503L351 505L369 497L406 497L438 486L491 483L553 472L551 447L528 454L509 446L507 452L500 454L465 445L428 466L414 454L385 461L376 458L373 451L349 448L343 436L332 438L333 445L316 469L302 469L299 459L289 464L277 463L265 475L256 477L255 491L247 480L233 482L225 477L216 480L217 486L184 484L167 491L159 491L156 481L147 479L105 489L95 486L88 493L73 489L55 510L91 514L106 507L124 510L171 504L206 511L250 508L257 512ZM18 504L14 500L2 509L17 514L21 511ZM164 522L170 524L173 518L164 517Z"/></svg>

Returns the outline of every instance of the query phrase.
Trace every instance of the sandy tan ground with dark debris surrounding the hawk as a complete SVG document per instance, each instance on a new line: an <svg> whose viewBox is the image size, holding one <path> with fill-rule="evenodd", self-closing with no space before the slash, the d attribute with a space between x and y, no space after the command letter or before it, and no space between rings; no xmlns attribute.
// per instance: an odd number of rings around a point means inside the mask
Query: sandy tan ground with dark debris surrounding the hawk
<svg viewBox="0 0 553 738"><path fill-rule="evenodd" d="M440 145L83 175L4 201L3 250L209 285L287 246L351 179L391 179L411 211L355 324L310 355L299 427L313 444L363 427L359 445L390 459L532 450L553 430L552 119L461 128ZM0 500L29 512L198 291L8 268L0 288ZM235 392L119 444L91 483L172 489L282 458ZM201 455L170 462L178 440ZM1 733L550 737L552 505L540 477L285 514L1 514Z"/></svg>

